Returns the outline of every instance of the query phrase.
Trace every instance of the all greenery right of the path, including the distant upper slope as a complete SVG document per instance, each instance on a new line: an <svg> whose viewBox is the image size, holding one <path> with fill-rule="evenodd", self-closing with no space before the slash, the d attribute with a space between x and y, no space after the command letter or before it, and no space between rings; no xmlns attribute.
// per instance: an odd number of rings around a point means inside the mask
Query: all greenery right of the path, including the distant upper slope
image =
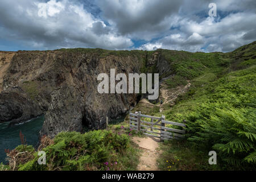
<svg viewBox="0 0 256 182"><path fill-rule="evenodd" d="M160 144L159 167L164 170L255 169L256 164L256 43L230 53L158 52L170 64L164 83L169 89L191 82L175 105L164 105L168 121L187 121L187 140ZM156 51L147 51L142 72ZM125 55L126 52L119 52ZM159 107L140 102L133 111L159 116ZM172 127L172 126L167 126ZM208 164L208 152L217 152L217 164ZM168 162L166 162L168 161ZM173 164L174 163L174 164Z"/></svg>

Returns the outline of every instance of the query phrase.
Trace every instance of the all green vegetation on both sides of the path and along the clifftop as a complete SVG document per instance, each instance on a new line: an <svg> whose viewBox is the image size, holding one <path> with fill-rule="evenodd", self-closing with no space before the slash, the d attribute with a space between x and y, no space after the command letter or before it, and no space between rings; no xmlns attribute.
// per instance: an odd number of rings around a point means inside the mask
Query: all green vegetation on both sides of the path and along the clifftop
<svg viewBox="0 0 256 182"><path fill-rule="evenodd" d="M142 72L156 72L148 60L159 52L170 65L161 78L168 89L191 83L180 94L175 105L159 106L142 100L133 111L148 115L165 115L166 120L186 121L186 139L160 144L163 151L158 163L162 170L255 170L256 169L256 42L229 53L169 51L107 51L104 49L60 49L84 51L98 56L135 56L141 60ZM24 82L24 89L33 98L36 84ZM133 147L130 135L121 126L110 125L110 130L80 133L60 133L44 145L47 165L39 166L39 156L27 150L27 158L17 162L19 170L132 170L137 167L139 150ZM172 127L168 126L167 127ZM177 126L175 128L178 128ZM139 134L141 135L141 134ZM24 146L18 146L16 155ZM31 147L28 147L30 148ZM217 165L209 165L209 151L217 152ZM11 154L10 154L11 155ZM23 154L20 154L23 155ZM117 164L115 164L117 162ZM108 165L107 165L108 164ZM109 166L109 164L113 164ZM2 165L2 166L1 166ZM0 164L0 169L13 166Z"/></svg>

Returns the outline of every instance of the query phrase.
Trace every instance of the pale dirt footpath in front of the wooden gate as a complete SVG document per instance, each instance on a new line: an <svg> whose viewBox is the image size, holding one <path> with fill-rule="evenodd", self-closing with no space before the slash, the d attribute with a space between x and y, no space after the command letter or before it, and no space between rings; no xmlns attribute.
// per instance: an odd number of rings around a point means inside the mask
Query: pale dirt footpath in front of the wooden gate
<svg viewBox="0 0 256 182"><path fill-rule="evenodd" d="M154 137L133 137L133 142L142 149L141 158L137 167L138 171L158 171L156 159L159 155L160 140Z"/></svg>

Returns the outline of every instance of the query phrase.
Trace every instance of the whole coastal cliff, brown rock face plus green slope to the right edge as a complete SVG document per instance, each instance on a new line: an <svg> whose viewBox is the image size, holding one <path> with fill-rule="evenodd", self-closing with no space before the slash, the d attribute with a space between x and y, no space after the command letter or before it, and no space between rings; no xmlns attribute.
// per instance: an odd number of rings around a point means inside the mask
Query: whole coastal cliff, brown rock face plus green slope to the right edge
<svg viewBox="0 0 256 182"><path fill-rule="evenodd" d="M83 127L103 129L106 117L120 117L147 95L100 94L100 73L159 73L159 98L151 105L163 100L171 108L180 94L195 87L195 78L214 78L253 65L255 44L228 53L84 48L0 52L0 122L13 124L44 114L40 136L49 137Z"/></svg>

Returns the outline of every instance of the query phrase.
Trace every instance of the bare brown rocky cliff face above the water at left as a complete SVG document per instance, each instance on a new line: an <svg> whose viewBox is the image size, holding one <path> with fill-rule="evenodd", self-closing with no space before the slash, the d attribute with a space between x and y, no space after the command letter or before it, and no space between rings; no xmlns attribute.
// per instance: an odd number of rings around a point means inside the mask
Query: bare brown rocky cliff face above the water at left
<svg viewBox="0 0 256 182"><path fill-rule="evenodd" d="M16 52L2 76L0 121L20 122L45 113L40 135L51 137L81 131L82 125L101 129L106 116L118 117L136 105L137 94L98 93L98 74L110 74L112 68L115 73L140 73L145 57L143 51L97 49Z"/></svg>

